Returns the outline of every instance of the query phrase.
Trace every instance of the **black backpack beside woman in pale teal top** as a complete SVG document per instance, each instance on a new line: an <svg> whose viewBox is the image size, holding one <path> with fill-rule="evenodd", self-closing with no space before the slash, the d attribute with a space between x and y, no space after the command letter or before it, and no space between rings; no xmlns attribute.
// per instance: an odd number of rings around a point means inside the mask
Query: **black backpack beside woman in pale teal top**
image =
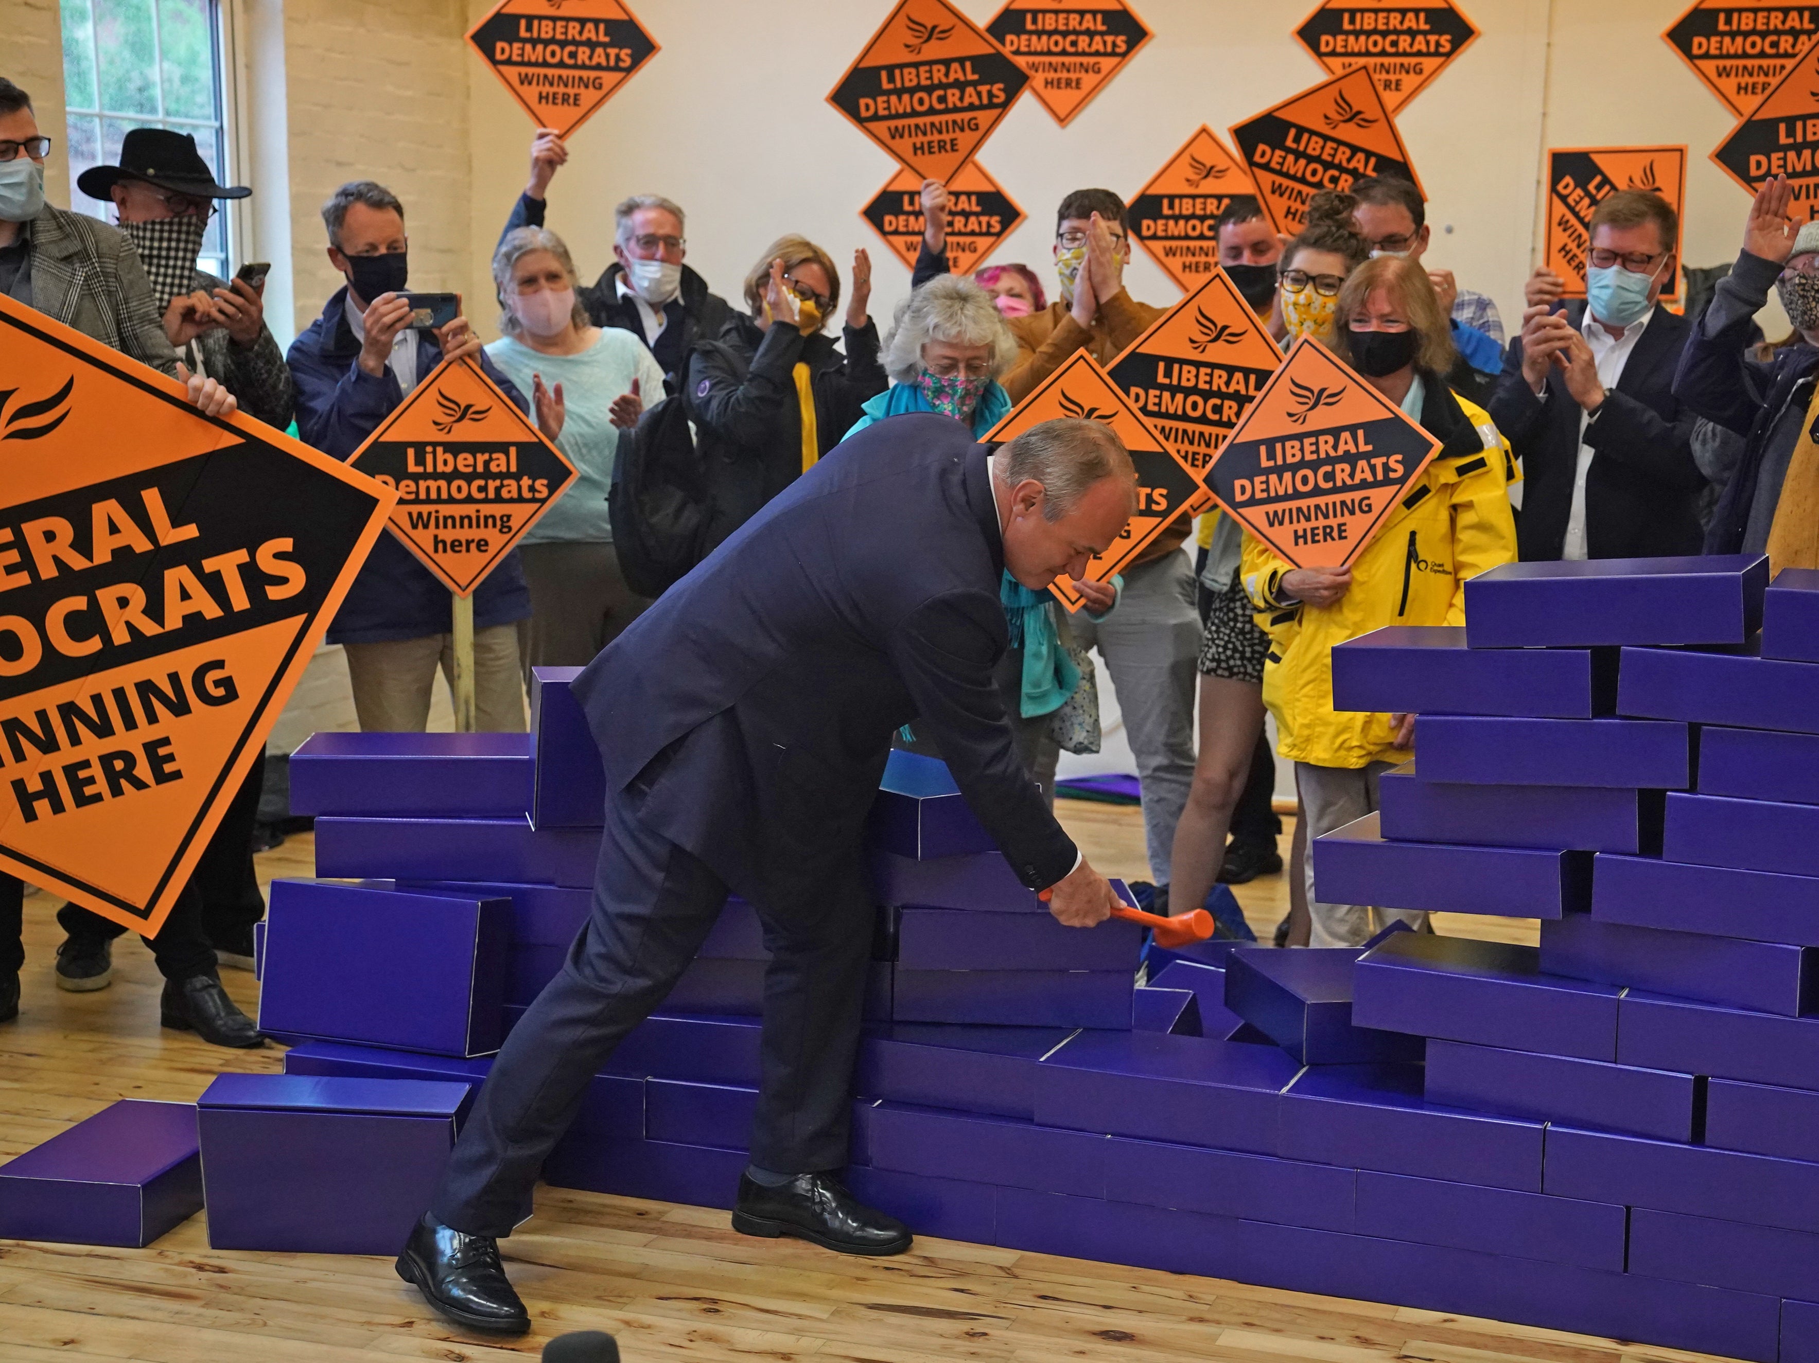
<svg viewBox="0 0 1819 1363"><path fill-rule="evenodd" d="M613 456L608 514L626 585L662 596L706 556L711 511L688 403L664 398L620 433Z"/></svg>

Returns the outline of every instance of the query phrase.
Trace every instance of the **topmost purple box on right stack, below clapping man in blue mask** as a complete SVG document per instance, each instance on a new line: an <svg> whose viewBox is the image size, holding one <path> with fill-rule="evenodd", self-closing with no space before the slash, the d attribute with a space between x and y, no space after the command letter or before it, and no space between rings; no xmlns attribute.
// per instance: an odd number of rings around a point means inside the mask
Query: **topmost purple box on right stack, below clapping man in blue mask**
<svg viewBox="0 0 1819 1363"><path fill-rule="evenodd" d="M1768 558L1501 563L1466 583L1473 649L1743 643L1763 623Z"/></svg>

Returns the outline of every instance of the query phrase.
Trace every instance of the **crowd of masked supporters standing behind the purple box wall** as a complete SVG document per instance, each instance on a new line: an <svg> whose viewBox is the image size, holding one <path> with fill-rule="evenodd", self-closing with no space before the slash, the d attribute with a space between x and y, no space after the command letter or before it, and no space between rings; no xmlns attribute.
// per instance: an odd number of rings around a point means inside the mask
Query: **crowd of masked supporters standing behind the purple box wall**
<svg viewBox="0 0 1819 1363"><path fill-rule="evenodd" d="M116 225L44 202L49 145L29 96L0 78L9 298L182 380L202 411L295 420L338 458L440 362L475 356L568 454L578 478L475 598L477 720L491 731L526 727L533 667L588 663L649 605L615 549L615 516L637 505L613 511L609 492L660 407L688 418L668 429L689 433L706 556L857 431L937 413L984 434L1070 356L1106 363L1166 311L1126 289L1126 205L1111 191L1057 205L1050 267L1004 262L962 278L948 267L948 191L933 180L913 289L882 338L866 251L842 278L815 242L782 236L729 300L689 269L684 209L658 194L618 204L613 260L589 284L544 225L569 158L546 129L493 258L500 340L482 345L466 316L417 323L406 205L362 180L322 207L346 284L284 354L258 280L196 269L216 202L249 191L215 184L191 138L135 129L118 165L78 180L113 204ZM1219 216L1221 265L1268 334L1330 347L1441 449L1348 569L1295 567L1208 512L1168 525L1111 582L1080 582L1077 614L1004 574L1011 647L997 689L1019 754L1053 798L1059 754L1097 747L1097 654L1137 763L1159 903L1182 910L1217 881L1282 869L1271 809L1282 756L1301 818L1295 912L1279 943L1355 945L1386 921L1370 905L1321 901L1304 854L1310 836L1373 811L1381 772L1413 754L1413 716L1333 711L1335 643L1390 623L1459 623L1462 583L1517 558L1750 551L1777 569L1819 565L1819 224L1799 227L1786 184L1770 182L1735 265L1690 314L1661 302L1681 260L1659 194L1612 193L1590 236L1586 298L1564 300L1566 282L1537 269L1506 338L1486 294L1424 262L1426 205L1406 180L1317 194L1291 240L1253 198ZM1775 343L1755 323L1770 287L1794 323ZM346 651L362 729L426 727L437 672L453 672L451 598L402 543L378 540L327 638ZM939 752L915 729L897 741ZM151 941L167 981L162 1021L218 1045L258 1045L218 965L249 963L262 910L249 851L260 783L255 765ZM20 883L0 881L0 1021L16 1014L20 901ZM106 987L120 929L73 905L58 921L58 985Z"/></svg>

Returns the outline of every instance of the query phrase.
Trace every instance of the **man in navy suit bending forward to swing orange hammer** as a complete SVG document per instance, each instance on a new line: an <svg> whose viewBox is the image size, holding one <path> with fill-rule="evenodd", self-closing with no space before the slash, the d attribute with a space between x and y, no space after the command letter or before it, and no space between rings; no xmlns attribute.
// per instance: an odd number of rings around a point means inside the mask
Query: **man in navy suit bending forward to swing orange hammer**
<svg viewBox="0 0 1819 1363"><path fill-rule="evenodd" d="M495 1239L728 890L757 905L771 949L733 1229L848 1254L910 1247L839 1183L871 947L866 812L913 720L1019 880L1053 890L1055 918L1110 914L1110 885L1017 758L993 667L1004 571L1033 589L1077 578L1133 509L1130 456L1097 422L1046 422L991 454L946 416L897 416L773 498L593 660L575 683L608 787L593 914L493 1063L398 1258L435 1308L528 1328Z"/></svg>

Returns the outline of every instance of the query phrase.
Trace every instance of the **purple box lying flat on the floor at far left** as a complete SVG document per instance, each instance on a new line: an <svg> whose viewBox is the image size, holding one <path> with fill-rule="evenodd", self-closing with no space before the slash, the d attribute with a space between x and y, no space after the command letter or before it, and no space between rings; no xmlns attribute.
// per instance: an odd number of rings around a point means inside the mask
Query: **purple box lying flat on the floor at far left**
<svg viewBox="0 0 1819 1363"><path fill-rule="evenodd" d="M144 1249L200 1210L191 1103L109 1103L0 1165L0 1239Z"/></svg>

